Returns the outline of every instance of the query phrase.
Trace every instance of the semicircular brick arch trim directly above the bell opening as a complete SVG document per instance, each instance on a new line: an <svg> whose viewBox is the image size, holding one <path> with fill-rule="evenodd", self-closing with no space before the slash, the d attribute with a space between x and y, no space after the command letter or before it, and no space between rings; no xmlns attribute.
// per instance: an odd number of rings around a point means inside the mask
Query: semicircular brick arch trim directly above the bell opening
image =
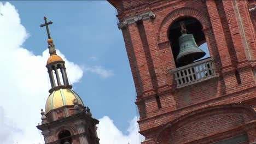
<svg viewBox="0 0 256 144"><path fill-rule="evenodd" d="M159 28L159 37L158 43L164 43L168 41L167 32L172 22L178 19L179 17L189 16L194 17L195 19L201 22L203 29L211 27L210 19L207 15L203 14L200 10L190 7L183 7L172 10L166 15L164 20L162 20Z"/></svg>

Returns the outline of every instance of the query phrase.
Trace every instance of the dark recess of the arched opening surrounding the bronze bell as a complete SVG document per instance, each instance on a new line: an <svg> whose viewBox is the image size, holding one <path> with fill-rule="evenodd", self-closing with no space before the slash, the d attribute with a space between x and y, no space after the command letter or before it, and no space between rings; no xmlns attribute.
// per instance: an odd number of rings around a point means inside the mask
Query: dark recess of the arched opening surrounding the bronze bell
<svg viewBox="0 0 256 144"><path fill-rule="evenodd" d="M187 62L177 62L177 56L179 55L181 50L179 38L184 34L182 33L182 26L183 28L185 28L187 34L193 34L196 45L199 46L199 48L201 48L206 53L206 55L202 58L210 56L208 52L208 47L206 44L205 34L202 32L202 25L200 21L198 21L194 17L182 17L174 21L170 26L170 28L168 29L168 39L170 40L176 68L182 67L184 65L187 65L187 64L193 63L194 61L199 60L199 59L194 59L192 61L189 61L188 59ZM190 41L193 41L193 39L190 39ZM195 53L195 55L197 54Z"/></svg>

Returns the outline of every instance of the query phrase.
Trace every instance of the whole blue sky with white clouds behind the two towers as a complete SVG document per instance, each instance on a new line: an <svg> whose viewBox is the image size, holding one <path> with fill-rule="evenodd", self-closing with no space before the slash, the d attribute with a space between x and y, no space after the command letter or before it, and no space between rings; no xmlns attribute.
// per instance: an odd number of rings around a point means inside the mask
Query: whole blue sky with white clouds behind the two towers
<svg viewBox="0 0 256 144"><path fill-rule="evenodd" d="M138 137L135 86L115 15L107 1L0 2L0 141L43 141L36 125L50 89L48 37L45 27L39 27L44 16L53 21L51 38L66 61L73 90L101 121L101 144L143 140Z"/></svg>

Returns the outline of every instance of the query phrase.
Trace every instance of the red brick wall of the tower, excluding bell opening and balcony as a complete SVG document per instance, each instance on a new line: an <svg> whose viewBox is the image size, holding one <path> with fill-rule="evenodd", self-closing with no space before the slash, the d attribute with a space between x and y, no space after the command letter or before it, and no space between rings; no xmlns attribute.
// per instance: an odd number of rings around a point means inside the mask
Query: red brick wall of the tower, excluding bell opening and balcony
<svg viewBox="0 0 256 144"><path fill-rule="evenodd" d="M121 29L137 91L140 133L146 136L142 143L213 143L241 134L254 142L255 130L245 125L255 129L256 10L248 10L255 1L122 1L113 5L120 22L148 10L156 16ZM168 28L182 17L200 21L217 77L178 89L170 73L176 65ZM232 104L248 109L240 115L216 109L214 115L195 121L183 119L184 127L171 125L193 112ZM250 112L247 121L245 113ZM225 134L220 139L218 133Z"/></svg>

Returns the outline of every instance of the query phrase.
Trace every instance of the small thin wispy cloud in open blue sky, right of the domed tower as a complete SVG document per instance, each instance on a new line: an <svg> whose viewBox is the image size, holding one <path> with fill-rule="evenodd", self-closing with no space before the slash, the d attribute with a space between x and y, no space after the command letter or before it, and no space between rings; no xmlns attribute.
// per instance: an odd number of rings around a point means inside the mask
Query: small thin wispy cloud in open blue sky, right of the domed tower
<svg viewBox="0 0 256 144"><path fill-rule="evenodd" d="M85 72L90 71L91 73L98 74L103 78L108 78L114 75L112 70L104 69L101 65L94 65L92 67L86 66L83 68L83 70Z"/></svg>

